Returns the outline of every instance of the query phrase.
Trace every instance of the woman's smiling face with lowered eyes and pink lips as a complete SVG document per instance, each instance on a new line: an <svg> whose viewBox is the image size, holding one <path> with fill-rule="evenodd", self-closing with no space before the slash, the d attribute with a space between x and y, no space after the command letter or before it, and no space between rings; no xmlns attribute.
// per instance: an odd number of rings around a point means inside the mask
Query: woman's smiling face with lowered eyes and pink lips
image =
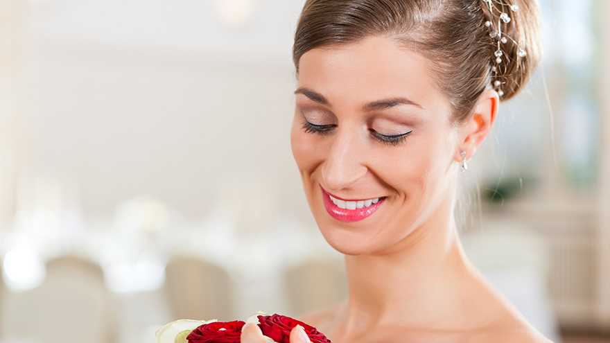
<svg viewBox="0 0 610 343"><path fill-rule="evenodd" d="M434 81L421 55L384 37L302 55L293 155L338 251L400 248L448 225L458 128Z"/></svg>

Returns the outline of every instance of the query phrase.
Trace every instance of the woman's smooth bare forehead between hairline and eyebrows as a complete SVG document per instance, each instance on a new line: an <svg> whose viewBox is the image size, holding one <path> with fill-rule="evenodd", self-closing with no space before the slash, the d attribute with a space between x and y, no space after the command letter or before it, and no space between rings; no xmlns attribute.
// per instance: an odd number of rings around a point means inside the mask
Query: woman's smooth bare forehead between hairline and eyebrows
<svg viewBox="0 0 610 343"><path fill-rule="evenodd" d="M331 103L405 97L424 109L448 106L428 60L385 37L307 51L299 60L299 87L313 89Z"/></svg>

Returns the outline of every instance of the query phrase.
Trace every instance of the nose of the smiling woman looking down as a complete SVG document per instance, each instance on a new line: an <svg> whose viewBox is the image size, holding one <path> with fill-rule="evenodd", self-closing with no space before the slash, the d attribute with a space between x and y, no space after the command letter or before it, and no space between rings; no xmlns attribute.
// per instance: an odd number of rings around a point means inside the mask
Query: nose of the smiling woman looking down
<svg viewBox="0 0 610 343"><path fill-rule="evenodd" d="M362 179L368 171L358 135L338 132L322 166L322 178L329 191L339 191Z"/></svg>

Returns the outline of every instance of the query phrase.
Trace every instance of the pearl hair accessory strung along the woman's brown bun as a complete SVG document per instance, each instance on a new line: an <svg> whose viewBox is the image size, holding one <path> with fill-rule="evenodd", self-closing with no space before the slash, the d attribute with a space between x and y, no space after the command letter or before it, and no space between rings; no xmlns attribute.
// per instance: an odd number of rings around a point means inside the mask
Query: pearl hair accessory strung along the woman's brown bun
<svg viewBox="0 0 610 343"><path fill-rule="evenodd" d="M494 41L494 45L497 45L497 49L494 52L494 56L492 57L492 60L496 61L496 65L494 67L491 67L491 71L494 72L494 79L496 80L494 81L494 87L496 91L498 91L498 95L501 98L504 95L504 91L502 91L503 82L499 80L499 72L500 65L503 62L503 56L505 56L505 53L502 50L503 44L506 44L509 40L512 41L513 44L517 46L517 49L519 49L517 55L519 55L520 58L525 58L528 53L526 53L525 50L521 49L519 44L517 44L517 42L515 42L512 37L509 37L508 35L503 33L501 27L502 23L509 24L509 22L511 21L510 16L508 15L508 13L503 12L503 9L510 8L512 12L517 12L519 11L519 6L510 5L505 0L483 0L483 2L485 2L487 8L489 8L490 15L489 20L485 21L485 26L489 28L489 37L491 37L491 39Z"/></svg>

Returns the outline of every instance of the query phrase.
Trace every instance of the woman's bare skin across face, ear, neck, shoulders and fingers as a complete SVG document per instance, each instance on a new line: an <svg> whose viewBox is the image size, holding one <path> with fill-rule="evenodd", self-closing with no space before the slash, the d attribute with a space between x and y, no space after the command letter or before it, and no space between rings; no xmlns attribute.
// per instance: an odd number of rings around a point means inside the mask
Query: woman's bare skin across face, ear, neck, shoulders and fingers
<svg viewBox="0 0 610 343"><path fill-rule="evenodd" d="M471 265L453 218L460 152L470 158L491 130L496 91L455 123L428 61L390 38L312 49L299 62L293 155L349 283L347 301L302 320L333 343L550 342ZM306 132L306 121L329 130ZM406 132L395 144L378 139ZM364 220L340 222L321 187L385 200ZM245 328L242 342L265 342L259 332Z"/></svg>

